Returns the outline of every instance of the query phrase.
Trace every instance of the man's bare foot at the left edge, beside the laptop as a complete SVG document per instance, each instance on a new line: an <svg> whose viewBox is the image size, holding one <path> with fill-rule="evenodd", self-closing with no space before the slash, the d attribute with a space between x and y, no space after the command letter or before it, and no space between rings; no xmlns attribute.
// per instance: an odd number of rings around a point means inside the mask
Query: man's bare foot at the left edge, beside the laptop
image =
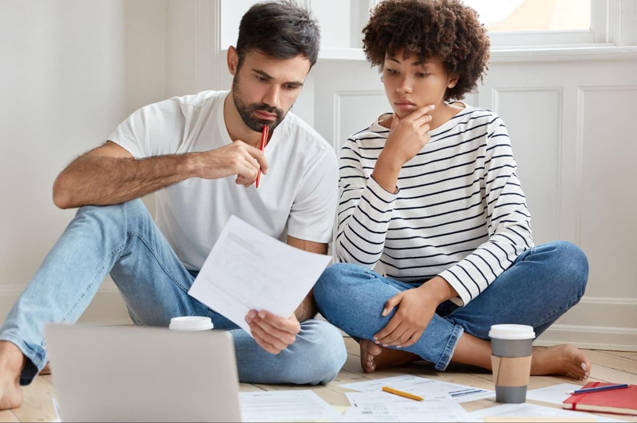
<svg viewBox="0 0 637 423"><path fill-rule="evenodd" d="M0 410L22 405L20 373L25 358L14 343L0 341Z"/></svg>

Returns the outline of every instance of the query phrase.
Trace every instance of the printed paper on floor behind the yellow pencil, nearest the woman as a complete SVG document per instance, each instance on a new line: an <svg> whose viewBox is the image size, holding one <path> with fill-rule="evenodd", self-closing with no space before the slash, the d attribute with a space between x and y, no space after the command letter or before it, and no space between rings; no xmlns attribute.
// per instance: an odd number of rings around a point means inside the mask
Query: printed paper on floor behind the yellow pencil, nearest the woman
<svg viewBox="0 0 637 423"><path fill-rule="evenodd" d="M431 391L447 392L459 403L475 401L476 399L491 398L496 395L494 391L487 391L486 389L452 384L451 382L441 382L440 380L433 380L413 375L394 376L340 386L347 389L353 389L354 391L365 392L382 391L383 386L389 386L394 389L398 389L399 391L410 392L410 394L416 394L419 396Z"/></svg>

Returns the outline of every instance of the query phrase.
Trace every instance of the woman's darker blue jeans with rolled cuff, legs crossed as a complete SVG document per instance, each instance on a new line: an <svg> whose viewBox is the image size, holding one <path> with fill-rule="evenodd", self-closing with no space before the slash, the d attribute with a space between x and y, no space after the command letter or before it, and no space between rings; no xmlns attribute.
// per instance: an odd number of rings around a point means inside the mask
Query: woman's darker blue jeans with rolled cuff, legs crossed
<svg viewBox="0 0 637 423"><path fill-rule="evenodd" d="M533 326L539 336L558 317L580 301L589 273L580 248L552 242L526 250L512 266L468 305L451 301L438 306L420 339L400 348L447 368L463 332L489 339L493 324ZM385 302L398 292L419 287L379 275L356 264L333 264L314 287L318 310L331 324L359 339L372 340L397 308L380 314Z"/></svg>

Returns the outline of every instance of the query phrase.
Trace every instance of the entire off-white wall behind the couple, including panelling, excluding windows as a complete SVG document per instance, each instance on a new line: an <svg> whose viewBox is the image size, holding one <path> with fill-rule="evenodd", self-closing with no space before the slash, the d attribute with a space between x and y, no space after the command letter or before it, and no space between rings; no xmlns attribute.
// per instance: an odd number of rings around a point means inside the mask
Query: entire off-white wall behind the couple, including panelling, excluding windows
<svg viewBox="0 0 637 423"><path fill-rule="evenodd" d="M224 49L236 41L238 25L231 17L240 17L239 8L250 3L0 2L5 99L0 104L0 314L73 216L51 202L55 175L101 143L135 108L229 88ZM224 15L224 8L231 9ZM352 22L357 26L360 18ZM294 106L336 148L376 113L389 110L378 74L360 50L352 50L352 40L323 46ZM631 129L637 54L617 47L494 52L492 57L485 85L466 100L498 111L508 124L536 241L574 241L590 262L582 302L541 340L637 350L632 257L637 139ZM152 201L148 204L152 209ZM113 285L104 285L83 318L126 319Z"/></svg>

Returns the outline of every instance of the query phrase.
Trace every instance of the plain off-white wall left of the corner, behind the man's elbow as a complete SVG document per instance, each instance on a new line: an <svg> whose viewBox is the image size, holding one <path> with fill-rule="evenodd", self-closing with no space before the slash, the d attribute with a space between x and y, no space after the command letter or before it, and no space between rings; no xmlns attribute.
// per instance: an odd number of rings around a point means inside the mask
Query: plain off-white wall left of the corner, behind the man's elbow
<svg viewBox="0 0 637 423"><path fill-rule="evenodd" d="M0 2L1 316L75 213L52 203L55 176L164 98L165 20L161 0ZM112 282L83 317L126 318Z"/></svg>

